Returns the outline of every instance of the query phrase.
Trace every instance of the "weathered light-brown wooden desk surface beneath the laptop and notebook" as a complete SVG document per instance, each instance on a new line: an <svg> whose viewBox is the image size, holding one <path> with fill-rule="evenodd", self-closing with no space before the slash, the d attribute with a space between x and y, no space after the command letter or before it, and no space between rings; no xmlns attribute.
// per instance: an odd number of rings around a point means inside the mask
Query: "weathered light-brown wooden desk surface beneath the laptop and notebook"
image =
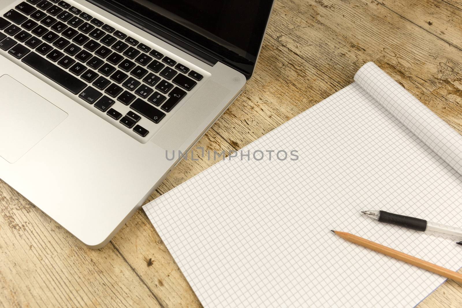
<svg viewBox="0 0 462 308"><path fill-rule="evenodd" d="M350 84L367 61L462 133L461 2L277 0L255 76L198 146L242 148ZM149 200L213 164L197 158ZM91 250L4 182L0 194L0 307L200 307L143 211ZM461 285L446 282L419 305L442 306L462 307Z"/></svg>

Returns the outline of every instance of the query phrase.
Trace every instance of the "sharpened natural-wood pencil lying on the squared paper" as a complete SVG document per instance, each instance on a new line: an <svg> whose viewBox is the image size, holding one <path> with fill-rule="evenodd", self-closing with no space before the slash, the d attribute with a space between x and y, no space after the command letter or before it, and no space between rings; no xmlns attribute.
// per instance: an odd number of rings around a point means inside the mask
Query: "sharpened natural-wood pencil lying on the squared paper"
<svg viewBox="0 0 462 308"><path fill-rule="evenodd" d="M419 258L413 257L411 255L402 253L400 251L397 251L395 249L388 248L386 246L377 244L375 242L366 240L362 237L355 236L353 234L347 233L347 232L341 232L341 231L334 231L334 234L340 236L344 240L348 242L352 242L354 244L357 244L359 246L369 248L371 250L377 251L378 253L385 254L389 257L404 261L406 263L412 264L413 266L420 267L424 270L427 270L429 272L433 272L435 274L441 275L446 278L450 278L454 281L462 283L462 274L459 274L457 272L453 272L451 270L448 270L447 268L435 265L433 263L420 260Z"/></svg>

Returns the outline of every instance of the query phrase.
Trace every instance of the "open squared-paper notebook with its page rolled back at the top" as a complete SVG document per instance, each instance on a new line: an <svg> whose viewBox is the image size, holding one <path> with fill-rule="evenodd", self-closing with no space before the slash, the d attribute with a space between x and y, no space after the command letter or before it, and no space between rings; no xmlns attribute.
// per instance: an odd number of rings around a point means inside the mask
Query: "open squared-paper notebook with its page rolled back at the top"
<svg viewBox="0 0 462 308"><path fill-rule="evenodd" d="M374 63L242 151L144 206L204 307L413 307L445 280L331 229L461 266L455 241L360 213L462 221L462 137Z"/></svg>

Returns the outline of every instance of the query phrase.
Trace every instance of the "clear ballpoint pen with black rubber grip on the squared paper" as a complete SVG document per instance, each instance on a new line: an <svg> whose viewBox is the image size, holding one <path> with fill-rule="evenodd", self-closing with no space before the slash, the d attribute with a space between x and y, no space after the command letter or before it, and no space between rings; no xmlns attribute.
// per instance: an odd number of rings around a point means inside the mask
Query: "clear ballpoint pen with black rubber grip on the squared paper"
<svg viewBox="0 0 462 308"><path fill-rule="evenodd" d="M408 229L462 239L461 228L451 227L441 223L432 223L425 219L398 215L386 211L362 211L362 213L381 223L392 223ZM458 244L462 245L462 243Z"/></svg>

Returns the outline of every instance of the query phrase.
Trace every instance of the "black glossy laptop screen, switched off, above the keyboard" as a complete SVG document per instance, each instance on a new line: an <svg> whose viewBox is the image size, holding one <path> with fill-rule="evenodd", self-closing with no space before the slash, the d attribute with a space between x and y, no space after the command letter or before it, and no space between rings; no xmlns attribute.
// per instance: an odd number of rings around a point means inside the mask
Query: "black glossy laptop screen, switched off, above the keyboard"
<svg viewBox="0 0 462 308"><path fill-rule="evenodd" d="M247 78L253 72L273 5L273 0L106 1L153 27L167 29Z"/></svg>

